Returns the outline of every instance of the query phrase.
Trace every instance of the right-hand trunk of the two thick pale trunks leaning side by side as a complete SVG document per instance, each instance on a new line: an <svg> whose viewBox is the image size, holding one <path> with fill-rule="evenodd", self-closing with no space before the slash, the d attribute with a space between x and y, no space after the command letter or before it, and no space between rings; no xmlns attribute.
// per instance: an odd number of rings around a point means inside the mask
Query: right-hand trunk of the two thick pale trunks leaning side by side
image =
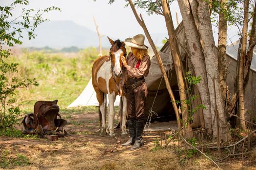
<svg viewBox="0 0 256 170"><path fill-rule="evenodd" d="M212 118L215 118L215 91L211 77L219 77L217 55L215 53L215 42L212 31L212 23L210 17L210 10L208 2L204 0L189 0L194 20L198 22L197 28L204 52L205 66L207 71L208 88L210 92L210 102L212 110ZM196 24L197 24L196 22ZM221 97L219 80L215 79L216 85L216 101L219 113L219 130L221 140L227 141L228 139L228 126L224 110L224 102ZM212 119L213 137L217 137L217 120Z"/></svg>

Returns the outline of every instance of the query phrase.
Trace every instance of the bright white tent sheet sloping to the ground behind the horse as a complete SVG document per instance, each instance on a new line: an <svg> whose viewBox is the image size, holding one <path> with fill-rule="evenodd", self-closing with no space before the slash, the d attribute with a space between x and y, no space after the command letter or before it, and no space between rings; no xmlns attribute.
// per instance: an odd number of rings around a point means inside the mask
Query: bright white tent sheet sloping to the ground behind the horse
<svg viewBox="0 0 256 170"><path fill-rule="evenodd" d="M117 96L117 99L114 103L115 106L119 106L120 97ZM108 103L108 98L107 98ZM96 92L93 88L92 78L90 79L87 86L84 88L79 97L72 102L68 107L78 107L78 106L98 106L98 100L96 97Z"/></svg>

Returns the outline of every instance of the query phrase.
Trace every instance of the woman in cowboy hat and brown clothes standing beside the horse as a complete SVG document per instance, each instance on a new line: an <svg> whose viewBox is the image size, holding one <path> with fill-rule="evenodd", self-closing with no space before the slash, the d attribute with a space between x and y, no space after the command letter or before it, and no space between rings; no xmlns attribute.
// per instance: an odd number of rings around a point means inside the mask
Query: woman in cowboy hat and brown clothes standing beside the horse
<svg viewBox="0 0 256 170"><path fill-rule="evenodd" d="M147 54L148 47L144 45L144 35L138 34L133 38L125 39L126 46L131 47L132 52L121 57L123 66L126 68L122 74L119 87L122 87L127 99L130 138L122 146L133 145L131 150L140 148L144 141L142 133L145 124L144 108L147 97L145 79L149 73L150 58ZM121 88L121 91L122 91Z"/></svg>

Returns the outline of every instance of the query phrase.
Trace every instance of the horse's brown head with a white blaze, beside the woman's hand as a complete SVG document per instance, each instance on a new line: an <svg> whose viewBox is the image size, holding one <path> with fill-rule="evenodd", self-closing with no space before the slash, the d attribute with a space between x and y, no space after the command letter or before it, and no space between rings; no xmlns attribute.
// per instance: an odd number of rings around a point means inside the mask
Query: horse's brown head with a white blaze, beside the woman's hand
<svg viewBox="0 0 256 170"><path fill-rule="evenodd" d="M126 49L124 47L124 42L121 42L119 39L113 41L108 37L108 40L111 44L111 48L109 51L109 58L111 60L111 69L115 76L120 77L122 74L122 61L121 56L126 57Z"/></svg>

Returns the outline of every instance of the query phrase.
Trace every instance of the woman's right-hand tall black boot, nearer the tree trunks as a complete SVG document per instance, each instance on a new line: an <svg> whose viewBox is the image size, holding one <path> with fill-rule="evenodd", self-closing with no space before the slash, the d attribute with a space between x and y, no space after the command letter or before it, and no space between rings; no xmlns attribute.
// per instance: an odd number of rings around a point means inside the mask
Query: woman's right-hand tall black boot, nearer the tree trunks
<svg viewBox="0 0 256 170"><path fill-rule="evenodd" d="M144 120L137 120L135 123L136 128L136 140L133 144L131 150L136 150L138 148L141 148L141 146L144 144L144 140L142 139L142 133L144 130Z"/></svg>

